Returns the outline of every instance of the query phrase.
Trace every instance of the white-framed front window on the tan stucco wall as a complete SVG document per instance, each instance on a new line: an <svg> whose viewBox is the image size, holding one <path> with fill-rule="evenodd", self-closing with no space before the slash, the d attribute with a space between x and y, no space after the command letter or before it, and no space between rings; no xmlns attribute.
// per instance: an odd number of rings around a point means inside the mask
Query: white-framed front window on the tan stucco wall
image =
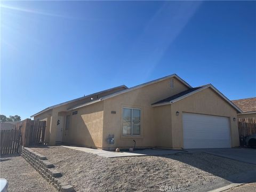
<svg viewBox="0 0 256 192"><path fill-rule="evenodd" d="M140 135L140 109L123 108L123 135Z"/></svg>

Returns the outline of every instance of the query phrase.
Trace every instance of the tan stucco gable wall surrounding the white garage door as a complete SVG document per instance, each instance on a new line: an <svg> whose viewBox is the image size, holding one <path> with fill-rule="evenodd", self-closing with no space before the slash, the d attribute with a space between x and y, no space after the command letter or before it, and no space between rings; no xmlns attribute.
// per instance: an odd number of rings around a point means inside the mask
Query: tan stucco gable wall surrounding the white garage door
<svg viewBox="0 0 256 192"><path fill-rule="evenodd" d="M175 115L179 111L179 115ZM211 88L190 95L178 102L174 102L171 107L172 118L172 147L183 148L183 129L182 129L182 113L198 113L206 115L217 115L229 117L231 147L239 146L237 111L231 107L227 101L222 99Z"/></svg>

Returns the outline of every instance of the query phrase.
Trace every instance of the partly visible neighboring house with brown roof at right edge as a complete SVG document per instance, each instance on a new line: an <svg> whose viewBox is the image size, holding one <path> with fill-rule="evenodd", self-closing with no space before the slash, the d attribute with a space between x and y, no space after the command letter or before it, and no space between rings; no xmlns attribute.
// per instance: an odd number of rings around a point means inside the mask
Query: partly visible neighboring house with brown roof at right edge
<svg viewBox="0 0 256 192"><path fill-rule="evenodd" d="M237 118L256 118L256 97L232 102L243 111L242 114L237 114Z"/></svg>

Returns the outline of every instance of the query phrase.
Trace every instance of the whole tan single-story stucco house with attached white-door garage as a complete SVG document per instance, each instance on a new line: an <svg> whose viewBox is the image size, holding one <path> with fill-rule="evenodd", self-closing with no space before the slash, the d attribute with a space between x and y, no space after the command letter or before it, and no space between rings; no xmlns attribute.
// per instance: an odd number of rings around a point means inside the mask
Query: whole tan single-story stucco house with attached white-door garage
<svg viewBox="0 0 256 192"><path fill-rule="evenodd" d="M31 117L47 122L49 145L188 149L239 146L237 113L241 109L213 85L191 87L173 74L86 95Z"/></svg>

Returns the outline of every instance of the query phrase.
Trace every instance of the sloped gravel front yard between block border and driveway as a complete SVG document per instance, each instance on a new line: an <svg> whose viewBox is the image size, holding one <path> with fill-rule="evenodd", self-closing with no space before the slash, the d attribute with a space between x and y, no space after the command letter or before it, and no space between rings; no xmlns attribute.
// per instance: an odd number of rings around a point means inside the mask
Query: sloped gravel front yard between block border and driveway
<svg viewBox="0 0 256 192"><path fill-rule="evenodd" d="M256 166L210 154L106 158L61 146L32 148L77 191L206 191Z"/></svg>

